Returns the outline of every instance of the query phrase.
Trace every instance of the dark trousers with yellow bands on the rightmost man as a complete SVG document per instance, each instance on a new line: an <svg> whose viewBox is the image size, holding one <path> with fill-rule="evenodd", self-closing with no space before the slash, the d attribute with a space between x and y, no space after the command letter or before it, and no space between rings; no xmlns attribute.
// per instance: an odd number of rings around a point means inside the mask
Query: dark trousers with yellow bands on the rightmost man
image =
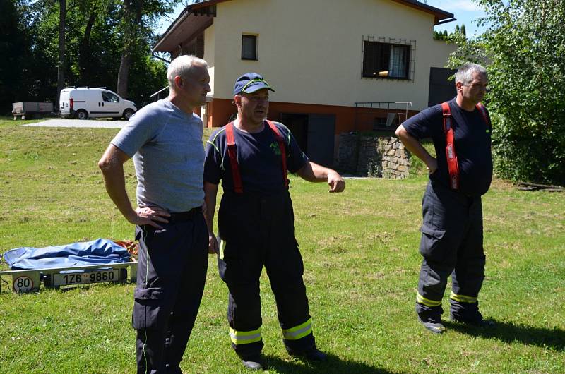
<svg viewBox="0 0 565 374"><path fill-rule="evenodd" d="M477 296L484 280L482 204L480 196L452 191L430 181L422 199L423 256L418 282L416 312L421 320L439 320L441 299L451 275L451 311L478 313ZM453 300L453 295L460 303Z"/></svg>

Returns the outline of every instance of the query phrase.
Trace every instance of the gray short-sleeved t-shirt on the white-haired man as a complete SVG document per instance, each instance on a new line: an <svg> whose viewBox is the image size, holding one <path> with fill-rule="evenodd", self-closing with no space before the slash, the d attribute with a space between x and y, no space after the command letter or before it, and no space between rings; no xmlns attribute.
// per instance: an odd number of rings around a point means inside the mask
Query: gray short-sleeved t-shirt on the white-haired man
<svg viewBox="0 0 565 374"><path fill-rule="evenodd" d="M186 114L167 99L131 116L111 143L133 157L140 207L186 212L202 205L202 133L196 114Z"/></svg>

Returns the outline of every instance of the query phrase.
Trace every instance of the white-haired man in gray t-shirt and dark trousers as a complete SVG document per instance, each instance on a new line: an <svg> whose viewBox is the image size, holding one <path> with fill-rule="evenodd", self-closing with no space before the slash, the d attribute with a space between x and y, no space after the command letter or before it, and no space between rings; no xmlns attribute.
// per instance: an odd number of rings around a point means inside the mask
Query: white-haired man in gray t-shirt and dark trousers
<svg viewBox="0 0 565 374"><path fill-rule="evenodd" d="M193 113L210 92L208 65L180 56L167 79L169 97L134 114L98 163L108 195L136 225L140 243L132 318L138 373L181 373L208 267L202 121ZM123 164L130 158L136 209L125 188Z"/></svg>

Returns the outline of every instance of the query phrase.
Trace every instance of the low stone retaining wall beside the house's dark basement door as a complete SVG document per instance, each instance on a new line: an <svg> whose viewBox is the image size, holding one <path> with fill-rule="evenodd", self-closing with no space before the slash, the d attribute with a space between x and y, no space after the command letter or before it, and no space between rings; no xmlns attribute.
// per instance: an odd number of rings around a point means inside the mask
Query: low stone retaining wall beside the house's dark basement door
<svg viewBox="0 0 565 374"><path fill-rule="evenodd" d="M337 169L345 174L402 179L408 176L410 152L392 136L340 134Z"/></svg>

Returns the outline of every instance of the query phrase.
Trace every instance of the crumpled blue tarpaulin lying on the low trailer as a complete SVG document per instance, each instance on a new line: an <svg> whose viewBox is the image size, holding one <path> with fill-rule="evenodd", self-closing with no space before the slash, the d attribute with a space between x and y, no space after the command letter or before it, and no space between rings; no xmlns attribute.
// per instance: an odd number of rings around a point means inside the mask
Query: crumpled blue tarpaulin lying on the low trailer
<svg viewBox="0 0 565 374"><path fill-rule="evenodd" d="M127 263L130 258L126 248L109 239L45 248L21 247L4 253L11 270Z"/></svg>

